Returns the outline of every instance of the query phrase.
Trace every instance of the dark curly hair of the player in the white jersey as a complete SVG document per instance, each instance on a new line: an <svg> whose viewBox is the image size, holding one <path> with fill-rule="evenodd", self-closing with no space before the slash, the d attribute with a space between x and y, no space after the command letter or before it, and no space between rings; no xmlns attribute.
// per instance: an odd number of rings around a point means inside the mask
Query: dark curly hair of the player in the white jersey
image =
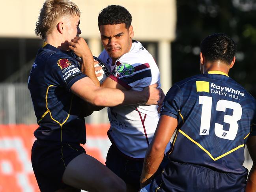
<svg viewBox="0 0 256 192"><path fill-rule="evenodd" d="M128 29L131 26L131 22L132 16L129 11L125 7L117 5L105 7L98 17L98 26L125 23L125 28Z"/></svg>

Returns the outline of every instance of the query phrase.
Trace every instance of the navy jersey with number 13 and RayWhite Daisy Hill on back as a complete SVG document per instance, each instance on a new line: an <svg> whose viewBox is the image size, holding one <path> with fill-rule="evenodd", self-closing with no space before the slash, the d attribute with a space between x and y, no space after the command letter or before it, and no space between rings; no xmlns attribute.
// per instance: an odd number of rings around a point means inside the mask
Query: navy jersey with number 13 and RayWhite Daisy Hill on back
<svg viewBox="0 0 256 192"><path fill-rule="evenodd" d="M161 115L178 119L169 158L244 173L244 147L248 137L256 135L255 110L255 99L220 71L174 84L161 110Z"/></svg>

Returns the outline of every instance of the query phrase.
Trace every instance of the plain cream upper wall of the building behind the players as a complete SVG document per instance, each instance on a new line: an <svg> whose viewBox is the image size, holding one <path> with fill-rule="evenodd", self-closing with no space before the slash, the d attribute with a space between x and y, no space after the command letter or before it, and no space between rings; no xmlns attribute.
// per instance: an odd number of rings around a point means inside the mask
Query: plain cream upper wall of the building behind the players
<svg viewBox="0 0 256 192"><path fill-rule="evenodd" d="M36 38L35 23L44 0L11 0L2 2L0 11L0 37ZM97 17L108 5L116 4L127 8L133 17L135 38L143 41L159 41L175 38L175 0L73 0L81 11L80 28L82 37L99 38ZM6 18L6 19L3 19Z"/></svg>

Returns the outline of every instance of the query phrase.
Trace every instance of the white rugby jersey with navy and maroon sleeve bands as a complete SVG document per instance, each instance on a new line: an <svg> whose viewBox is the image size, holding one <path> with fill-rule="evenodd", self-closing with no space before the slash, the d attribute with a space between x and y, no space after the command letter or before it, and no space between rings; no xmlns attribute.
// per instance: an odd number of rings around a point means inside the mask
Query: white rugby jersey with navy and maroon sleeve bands
<svg viewBox="0 0 256 192"><path fill-rule="evenodd" d="M128 53L123 54L114 65L106 50L99 59L111 69L112 78L126 89L141 91L158 83L160 73L155 60L140 42L134 41ZM114 98L113 98L114 99ZM108 136L112 144L125 155L144 158L151 142L160 114L157 105L129 105L108 107L110 129ZM166 152L170 144L166 147Z"/></svg>

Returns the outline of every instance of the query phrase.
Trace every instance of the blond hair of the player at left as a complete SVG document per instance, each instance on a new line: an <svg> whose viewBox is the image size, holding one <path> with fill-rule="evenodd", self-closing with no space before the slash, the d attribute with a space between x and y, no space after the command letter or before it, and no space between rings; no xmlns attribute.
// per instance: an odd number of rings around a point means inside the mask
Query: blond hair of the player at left
<svg viewBox="0 0 256 192"><path fill-rule="evenodd" d="M45 39L47 34L52 32L58 19L64 15L80 17L80 10L75 3L69 0L46 0L36 22L36 35Z"/></svg>

